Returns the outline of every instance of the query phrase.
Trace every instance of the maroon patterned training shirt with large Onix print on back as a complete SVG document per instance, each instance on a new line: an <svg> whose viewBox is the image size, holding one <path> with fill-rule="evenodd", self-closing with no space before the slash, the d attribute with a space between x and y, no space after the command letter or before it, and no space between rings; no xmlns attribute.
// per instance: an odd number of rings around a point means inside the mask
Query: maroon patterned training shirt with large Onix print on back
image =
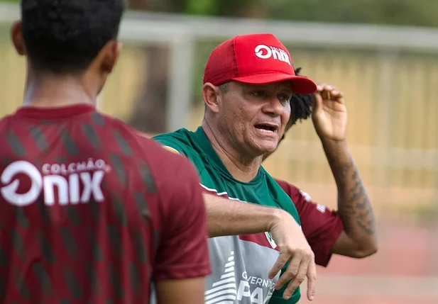
<svg viewBox="0 0 438 304"><path fill-rule="evenodd" d="M148 303L210 273L192 165L87 105L0 120L0 303Z"/></svg>

